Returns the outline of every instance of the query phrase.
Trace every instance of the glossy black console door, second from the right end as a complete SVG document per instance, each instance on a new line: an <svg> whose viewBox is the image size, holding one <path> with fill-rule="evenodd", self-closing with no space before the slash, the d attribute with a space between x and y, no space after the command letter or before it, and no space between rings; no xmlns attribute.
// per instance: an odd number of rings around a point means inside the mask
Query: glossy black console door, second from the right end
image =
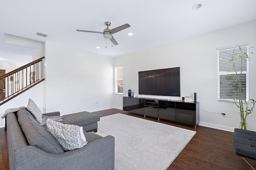
<svg viewBox="0 0 256 170"><path fill-rule="evenodd" d="M175 121L175 102L174 101L159 101L158 116L160 119Z"/></svg>

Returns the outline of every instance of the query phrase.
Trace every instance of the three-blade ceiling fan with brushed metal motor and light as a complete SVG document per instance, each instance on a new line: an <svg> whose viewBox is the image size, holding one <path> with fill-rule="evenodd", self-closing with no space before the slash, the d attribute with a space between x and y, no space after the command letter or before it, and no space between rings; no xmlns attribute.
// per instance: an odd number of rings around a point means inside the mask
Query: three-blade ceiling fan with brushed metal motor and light
<svg viewBox="0 0 256 170"><path fill-rule="evenodd" d="M116 32L119 32L119 31L122 31L126 28L129 28L130 25L129 24L124 24L122 26L119 26L119 27L116 27L116 28L113 28L112 30L110 30L108 28L108 26L111 25L111 22L105 22L105 25L107 26L106 29L104 29L103 32L97 32L97 31L86 31L86 30L76 30L76 31L81 31L81 32L92 32L92 33L98 33L98 34L103 34L103 37L105 39L108 39L110 40L114 45L118 45L118 43L116 42L116 40L114 39L113 37L113 34L115 34Z"/></svg>

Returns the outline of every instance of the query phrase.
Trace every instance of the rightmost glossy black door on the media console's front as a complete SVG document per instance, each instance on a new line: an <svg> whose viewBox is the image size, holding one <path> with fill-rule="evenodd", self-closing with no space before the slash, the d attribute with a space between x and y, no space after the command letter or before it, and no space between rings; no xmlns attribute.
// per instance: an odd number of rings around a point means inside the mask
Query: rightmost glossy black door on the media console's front
<svg viewBox="0 0 256 170"><path fill-rule="evenodd" d="M196 125L196 104L176 102L175 121Z"/></svg>

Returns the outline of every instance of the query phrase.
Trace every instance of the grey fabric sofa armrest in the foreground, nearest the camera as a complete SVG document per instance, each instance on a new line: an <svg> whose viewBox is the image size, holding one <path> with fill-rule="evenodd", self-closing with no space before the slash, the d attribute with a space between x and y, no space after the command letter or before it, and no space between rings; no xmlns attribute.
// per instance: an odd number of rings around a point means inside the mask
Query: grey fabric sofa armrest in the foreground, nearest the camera
<svg viewBox="0 0 256 170"><path fill-rule="evenodd" d="M14 156L15 169L114 169L114 137L106 136L89 142L82 148L54 154L35 146L18 148Z"/></svg>

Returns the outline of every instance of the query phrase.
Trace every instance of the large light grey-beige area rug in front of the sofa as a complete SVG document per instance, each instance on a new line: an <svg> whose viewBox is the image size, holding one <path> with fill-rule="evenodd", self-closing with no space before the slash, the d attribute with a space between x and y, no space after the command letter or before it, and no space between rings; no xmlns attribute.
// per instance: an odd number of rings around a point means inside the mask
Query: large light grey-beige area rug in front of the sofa
<svg viewBox="0 0 256 170"><path fill-rule="evenodd" d="M118 113L101 117L97 134L115 137L116 170L162 170L196 132Z"/></svg>

